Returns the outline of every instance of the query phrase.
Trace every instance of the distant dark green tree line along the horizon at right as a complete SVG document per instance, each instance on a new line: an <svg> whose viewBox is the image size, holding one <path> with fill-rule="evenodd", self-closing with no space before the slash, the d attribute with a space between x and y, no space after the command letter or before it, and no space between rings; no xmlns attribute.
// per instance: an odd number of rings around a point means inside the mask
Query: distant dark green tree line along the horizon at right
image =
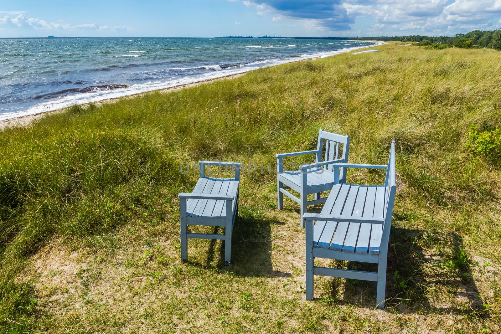
<svg viewBox="0 0 501 334"><path fill-rule="evenodd" d="M362 40L362 41L399 41L417 42L418 45L451 45L456 48L489 48L501 50L501 30L481 31L474 30L467 34L449 36L373 36L373 37L283 37L283 36L225 36L226 38L291 38L296 40ZM445 46L444 46L445 47ZM443 49L440 47L438 49ZM436 47L434 47L436 48Z"/></svg>

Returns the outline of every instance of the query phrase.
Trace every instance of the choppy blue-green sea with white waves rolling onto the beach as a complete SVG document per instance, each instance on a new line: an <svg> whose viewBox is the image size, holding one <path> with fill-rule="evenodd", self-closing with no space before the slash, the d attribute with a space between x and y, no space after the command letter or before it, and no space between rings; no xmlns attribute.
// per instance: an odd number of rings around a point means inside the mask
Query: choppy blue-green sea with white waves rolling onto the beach
<svg viewBox="0 0 501 334"><path fill-rule="evenodd" d="M372 45L285 38L0 39L0 120Z"/></svg>

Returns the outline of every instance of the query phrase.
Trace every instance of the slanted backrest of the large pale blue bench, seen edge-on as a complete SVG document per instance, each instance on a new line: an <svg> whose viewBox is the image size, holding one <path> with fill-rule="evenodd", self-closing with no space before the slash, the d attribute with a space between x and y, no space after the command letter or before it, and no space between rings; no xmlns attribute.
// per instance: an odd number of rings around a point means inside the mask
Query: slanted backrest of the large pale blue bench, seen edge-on
<svg viewBox="0 0 501 334"><path fill-rule="evenodd" d="M391 217L393 215L393 206L395 204L395 192L397 190L396 172L395 172L395 142L391 143L390 157L388 158L388 169L386 170L385 185L385 201L384 201L384 225L383 234L381 236L381 246L388 245L390 237ZM383 246L385 245L385 246ZM387 248L387 247L386 247Z"/></svg>

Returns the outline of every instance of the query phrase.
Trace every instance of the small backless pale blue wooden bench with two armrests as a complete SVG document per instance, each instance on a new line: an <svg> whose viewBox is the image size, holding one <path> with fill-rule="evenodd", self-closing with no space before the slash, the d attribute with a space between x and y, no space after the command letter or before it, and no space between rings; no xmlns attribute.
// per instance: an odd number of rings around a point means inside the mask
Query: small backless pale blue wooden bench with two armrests
<svg viewBox="0 0 501 334"><path fill-rule="evenodd" d="M188 259L188 238L224 240L224 264L231 262L231 232L238 213L240 164L200 161L200 178L192 193L180 193L181 262ZM234 168L234 178L205 176L205 166ZM210 171L210 170L209 170ZM224 234L188 233L188 225L223 226Z"/></svg>

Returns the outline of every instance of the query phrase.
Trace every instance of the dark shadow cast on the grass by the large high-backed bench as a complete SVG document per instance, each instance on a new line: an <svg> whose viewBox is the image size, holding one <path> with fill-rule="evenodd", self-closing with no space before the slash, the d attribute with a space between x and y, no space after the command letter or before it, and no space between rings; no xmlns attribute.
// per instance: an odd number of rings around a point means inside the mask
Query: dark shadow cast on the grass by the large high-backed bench
<svg viewBox="0 0 501 334"><path fill-rule="evenodd" d="M394 215L393 223L399 220L404 219ZM439 242L443 251L433 256L427 254L420 245L426 245L430 240L433 243ZM377 271L377 264L334 262L334 267L343 269ZM480 317L487 315L487 312L483 312L483 301L472 278L471 261L464 251L462 238L456 233L392 226L386 272L386 309L393 307L400 313L473 313ZM456 300L441 300L437 305L427 294L426 289L429 288L435 288L437 293L454 289ZM324 295L326 292L336 299L336 303L368 308L374 308L376 303L375 282L333 278L324 280L323 289ZM341 300L338 300L339 295L342 295ZM462 304L459 299L463 301Z"/></svg>

